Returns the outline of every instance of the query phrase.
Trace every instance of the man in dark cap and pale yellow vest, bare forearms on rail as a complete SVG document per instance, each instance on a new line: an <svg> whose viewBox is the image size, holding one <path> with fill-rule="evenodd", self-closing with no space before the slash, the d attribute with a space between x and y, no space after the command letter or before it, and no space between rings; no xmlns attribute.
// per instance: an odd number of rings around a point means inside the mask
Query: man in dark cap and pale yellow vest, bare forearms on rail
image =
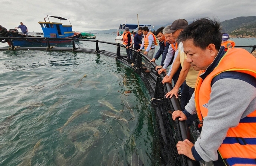
<svg viewBox="0 0 256 166"><path fill-rule="evenodd" d="M183 31L184 27L188 25L187 21L184 19L175 20L171 25L171 30L168 33L172 33L172 37L176 40L178 35ZM177 41L176 41L177 42ZM178 76L178 80L174 85L174 88L166 93L166 97L172 97L175 95L178 98L178 91L181 85L183 85L183 90L181 93L181 109L183 110L184 107L189 102L190 97L192 96L195 90L195 82L197 81L198 71L194 70L194 68L186 61L187 56L183 51L183 43L180 42L178 44L178 55L175 61L173 62L171 71L165 76L163 79L163 83L165 82L172 82L172 78L174 77L175 73L180 68L180 75ZM195 119L196 115L194 115ZM190 117L192 118L192 117ZM188 119L188 125L191 125L194 119Z"/></svg>

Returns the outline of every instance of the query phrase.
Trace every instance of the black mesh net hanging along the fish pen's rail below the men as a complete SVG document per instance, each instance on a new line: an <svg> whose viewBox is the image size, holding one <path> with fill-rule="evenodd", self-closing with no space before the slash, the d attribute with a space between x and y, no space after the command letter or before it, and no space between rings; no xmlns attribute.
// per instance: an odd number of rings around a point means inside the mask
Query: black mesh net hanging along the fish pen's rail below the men
<svg viewBox="0 0 256 166"><path fill-rule="evenodd" d="M118 52L118 51L117 51ZM134 51L135 52L135 51ZM117 53L118 54L118 53ZM151 105L154 108L152 112L154 122L154 136L152 144L152 166L196 166L200 163L192 161L184 155L179 155L176 145L178 141L184 140L181 134L180 123L178 120L172 120L172 112L175 110L171 99L166 98L165 94L168 88L162 84L165 77L164 73L158 75L155 66L149 63L149 59L142 53L136 53L136 61L134 63L135 72L140 76L146 85L151 96ZM122 54L120 59L127 60L126 55ZM149 70L150 72L146 72ZM180 99L177 100L180 105ZM186 124L185 124L186 125ZM197 133L195 123L192 132ZM195 135L198 137L198 135ZM195 140L196 138L192 139ZM190 139L191 140L191 139Z"/></svg>

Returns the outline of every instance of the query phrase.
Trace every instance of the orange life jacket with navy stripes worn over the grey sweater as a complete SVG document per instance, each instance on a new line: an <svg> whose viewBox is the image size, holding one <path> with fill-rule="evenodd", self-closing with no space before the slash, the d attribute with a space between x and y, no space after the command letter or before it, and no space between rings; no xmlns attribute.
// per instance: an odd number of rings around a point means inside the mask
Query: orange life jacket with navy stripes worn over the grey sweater
<svg viewBox="0 0 256 166"><path fill-rule="evenodd" d="M215 69L204 80L199 77L204 71L199 72L195 87L195 106L200 122L203 122L203 118L208 113L212 79L226 71L247 73L256 78L255 58L244 49L228 49ZM230 166L245 166L245 163L247 163L246 166L256 166L256 121L251 120L255 118L256 110L241 119L238 126L229 128L227 131L226 139L218 151ZM248 160L253 164L248 164Z"/></svg>

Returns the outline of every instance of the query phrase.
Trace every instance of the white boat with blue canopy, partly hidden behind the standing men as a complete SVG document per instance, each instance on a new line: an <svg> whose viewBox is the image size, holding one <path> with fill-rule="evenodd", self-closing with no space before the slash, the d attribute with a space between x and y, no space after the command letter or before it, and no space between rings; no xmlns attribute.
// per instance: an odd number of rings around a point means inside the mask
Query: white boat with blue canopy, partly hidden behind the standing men
<svg viewBox="0 0 256 166"><path fill-rule="evenodd" d="M135 30L140 26L142 26L142 27L147 26L150 29L151 25L147 25L147 24L139 24L139 25L138 24L120 24L119 28L117 29L116 43L123 44L122 39L123 39L123 32L124 32L125 27L128 27L130 30Z"/></svg>

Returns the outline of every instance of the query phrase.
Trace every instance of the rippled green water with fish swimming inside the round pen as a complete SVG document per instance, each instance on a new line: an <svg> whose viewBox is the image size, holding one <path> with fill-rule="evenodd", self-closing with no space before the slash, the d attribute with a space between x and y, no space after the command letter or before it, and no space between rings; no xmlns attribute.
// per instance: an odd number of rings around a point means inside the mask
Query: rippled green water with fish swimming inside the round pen
<svg viewBox="0 0 256 166"><path fill-rule="evenodd" d="M99 54L24 50L1 51L0 68L0 165L150 165L150 96L129 67Z"/></svg>

